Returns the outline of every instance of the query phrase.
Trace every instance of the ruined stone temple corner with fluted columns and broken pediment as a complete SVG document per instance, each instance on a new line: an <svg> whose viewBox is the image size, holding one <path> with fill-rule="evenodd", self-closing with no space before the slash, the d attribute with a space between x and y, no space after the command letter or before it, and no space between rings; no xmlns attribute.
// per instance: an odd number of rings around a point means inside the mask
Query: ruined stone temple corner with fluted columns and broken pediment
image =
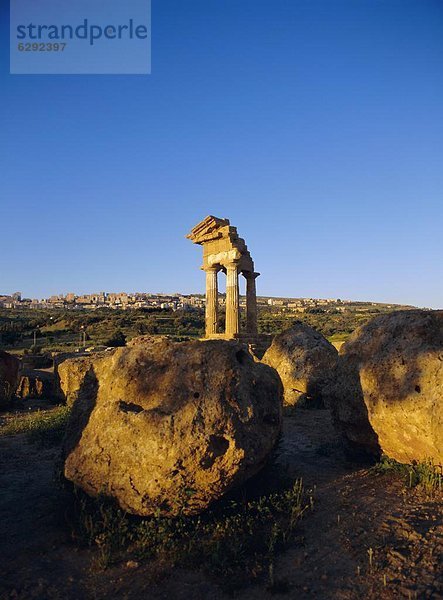
<svg viewBox="0 0 443 600"><path fill-rule="evenodd" d="M206 338L238 339L255 344L257 331L257 295L255 280L260 275L254 269L245 240L228 219L206 217L196 225L188 239L203 246L202 269L206 273ZM226 274L226 327L218 331L218 273ZM246 279L246 331L240 331L238 276ZM262 336L260 336L262 337Z"/></svg>

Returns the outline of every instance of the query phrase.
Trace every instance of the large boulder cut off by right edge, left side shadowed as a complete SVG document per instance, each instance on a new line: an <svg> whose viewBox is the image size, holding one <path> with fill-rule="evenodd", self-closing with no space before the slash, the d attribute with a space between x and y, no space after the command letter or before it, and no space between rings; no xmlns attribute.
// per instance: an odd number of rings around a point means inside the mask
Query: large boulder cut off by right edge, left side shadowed
<svg viewBox="0 0 443 600"><path fill-rule="evenodd" d="M443 462L443 311L376 317L340 353L334 421L348 447Z"/></svg>

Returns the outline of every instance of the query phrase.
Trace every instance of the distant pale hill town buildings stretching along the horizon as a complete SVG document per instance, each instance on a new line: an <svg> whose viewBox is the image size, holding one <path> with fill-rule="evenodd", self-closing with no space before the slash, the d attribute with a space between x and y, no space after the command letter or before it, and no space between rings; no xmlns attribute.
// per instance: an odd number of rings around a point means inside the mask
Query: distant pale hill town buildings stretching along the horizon
<svg viewBox="0 0 443 600"><path fill-rule="evenodd" d="M224 304L225 294L220 294L220 304ZM378 302L355 302L352 300L316 299L316 298L276 298L260 296L258 304L262 306L275 307L284 312L305 312L318 309L322 312L374 312L377 308L414 308L409 305L384 304ZM240 306L246 303L245 297L240 298ZM160 308L176 310L192 310L204 308L205 297L202 294L183 295L176 294L149 294L149 293L108 293L50 296L41 300L22 298L21 292L11 295L0 294L0 308L6 309L64 309L64 310L97 310L100 308L111 308L119 310Z"/></svg>

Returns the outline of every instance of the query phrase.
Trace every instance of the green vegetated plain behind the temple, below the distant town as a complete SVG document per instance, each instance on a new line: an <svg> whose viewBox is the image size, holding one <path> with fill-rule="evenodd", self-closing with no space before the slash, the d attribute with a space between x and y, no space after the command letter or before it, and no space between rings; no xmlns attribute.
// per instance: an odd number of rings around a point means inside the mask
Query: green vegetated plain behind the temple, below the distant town
<svg viewBox="0 0 443 600"><path fill-rule="evenodd" d="M292 327L300 319L317 329L333 342L342 342L357 327L371 318L393 308L365 305L366 312L358 312L358 305L340 312L337 309L312 308L306 312L287 312L275 306L260 305L258 328L260 333L276 334ZM246 314L241 311L241 324L246 327ZM219 328L224 330L225 315L221 307ZM0 309L0 345L8 351L37 349L65 352L86 346L119 346L139 335L170 335L179 339L193 339L204 335L204 309L177 310L171 308L138 308L115 310L67 309Z"/></svg>

